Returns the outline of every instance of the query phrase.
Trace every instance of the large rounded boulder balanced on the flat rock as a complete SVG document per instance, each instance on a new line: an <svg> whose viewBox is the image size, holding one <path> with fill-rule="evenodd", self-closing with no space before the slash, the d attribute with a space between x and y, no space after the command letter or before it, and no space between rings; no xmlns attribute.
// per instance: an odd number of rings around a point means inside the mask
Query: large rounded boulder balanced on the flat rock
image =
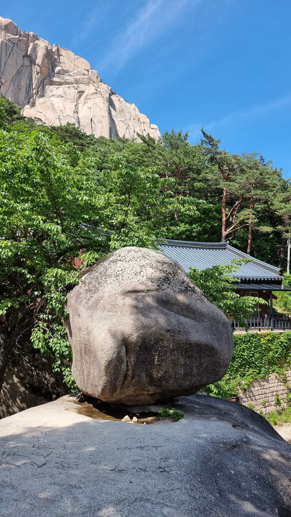
<svg viewBox="0 0 291 517"><path fill-rule="evenodd" d="M163 253L122 248L84 271L67 296L72 374L106 402L190 395L225 374L227 318Z"/></svg>

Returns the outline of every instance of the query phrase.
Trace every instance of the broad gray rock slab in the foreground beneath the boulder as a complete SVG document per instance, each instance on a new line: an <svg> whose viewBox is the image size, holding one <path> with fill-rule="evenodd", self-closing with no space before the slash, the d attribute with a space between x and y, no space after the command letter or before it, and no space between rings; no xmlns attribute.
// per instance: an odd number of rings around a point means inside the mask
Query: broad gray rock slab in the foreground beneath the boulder
<svg viewBox="0 0 291 517"><path fill-rule="evenodd" d="M176 423L94 420L66 397L2 419L1 517L290 516L291 446L271 425L179 400Z"/></svg>

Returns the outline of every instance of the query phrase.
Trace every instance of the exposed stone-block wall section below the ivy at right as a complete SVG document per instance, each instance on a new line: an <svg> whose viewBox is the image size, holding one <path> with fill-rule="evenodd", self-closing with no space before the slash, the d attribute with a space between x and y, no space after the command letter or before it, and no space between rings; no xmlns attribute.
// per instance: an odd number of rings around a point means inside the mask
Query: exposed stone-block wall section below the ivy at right
<svg viewBox="0 0 291 517"><path fill-rule="evenodd" d="M286 377L291 386L291 370L286 372ZM276 409L276 406L274 406L276 393L278 393L280 399L285 399L288 390L282 383L280 375L271 373L266 379L253 381L247 391L239 389L239 401L245 406L251 402L254 409L262 409L263 413L268 413ZM266 402L265 407L261 404L263 400Z"/></svg>

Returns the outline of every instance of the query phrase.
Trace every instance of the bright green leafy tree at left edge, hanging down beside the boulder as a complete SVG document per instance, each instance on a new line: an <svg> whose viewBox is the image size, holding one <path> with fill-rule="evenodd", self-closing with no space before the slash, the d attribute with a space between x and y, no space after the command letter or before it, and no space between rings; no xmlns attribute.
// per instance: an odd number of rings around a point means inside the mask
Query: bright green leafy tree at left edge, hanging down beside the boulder
<svg viewBox="0 0 291 517"><path fill-rule="evenodd" d="M55 370L69 385L71 352L63 320L66 288L78 283L73 257L80 249L98 258L105 243L82 223L98 221L104 204L80 155L74 168L67 149L35 131L0 130L0 311L25 309L35 321L32 340L53 351ZM108 246L105 249L108 250Z"/></svg>

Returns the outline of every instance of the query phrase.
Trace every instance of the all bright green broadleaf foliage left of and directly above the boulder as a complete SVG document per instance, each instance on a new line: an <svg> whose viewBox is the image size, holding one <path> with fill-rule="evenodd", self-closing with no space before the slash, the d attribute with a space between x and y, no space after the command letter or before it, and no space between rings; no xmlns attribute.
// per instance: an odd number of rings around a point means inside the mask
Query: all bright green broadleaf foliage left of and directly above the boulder
<svg viewBox="0 0 291 517"><path fill-rule="evenodd" d="M67 288L80 281L74 257L90 265L122 246L156 248L175 216L197 213L156 169L125 153L109 161L97 173L98 160L71 142L39 128L0 130L0 315L29 318L34 346L53 353L73 389L64 320Z"/></svg>

